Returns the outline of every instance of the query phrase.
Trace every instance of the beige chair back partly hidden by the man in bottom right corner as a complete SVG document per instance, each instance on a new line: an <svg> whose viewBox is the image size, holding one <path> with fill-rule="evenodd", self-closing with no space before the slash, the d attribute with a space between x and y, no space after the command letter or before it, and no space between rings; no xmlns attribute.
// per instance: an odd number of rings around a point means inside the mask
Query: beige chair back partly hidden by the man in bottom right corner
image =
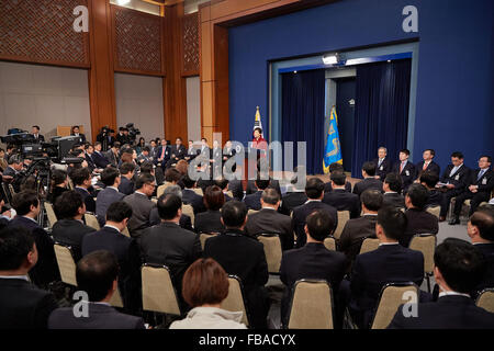
<svg viewBox="0 0 494 351"><path fill-rule="evenodd" d="M414 302L418 303L418 286L412 282L384 285L381 290L371 329L388 328L400 305L409 302L411 296L415 296Z"/></svg>

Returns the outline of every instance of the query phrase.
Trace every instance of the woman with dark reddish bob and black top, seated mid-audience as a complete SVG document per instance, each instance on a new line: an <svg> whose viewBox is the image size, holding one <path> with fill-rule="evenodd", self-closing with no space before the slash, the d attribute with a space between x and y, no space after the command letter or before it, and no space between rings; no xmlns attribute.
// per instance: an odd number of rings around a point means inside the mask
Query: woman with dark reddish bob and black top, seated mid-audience
<svg viewBox="0 0 494 351"><path fill-rule="evenodd" d="M225 229L222 224L220 210L225 203L225 194L217 185L207 186L204 194L206 212L198 213L194 217L194 230L197 233L221 233Z"/></svg>

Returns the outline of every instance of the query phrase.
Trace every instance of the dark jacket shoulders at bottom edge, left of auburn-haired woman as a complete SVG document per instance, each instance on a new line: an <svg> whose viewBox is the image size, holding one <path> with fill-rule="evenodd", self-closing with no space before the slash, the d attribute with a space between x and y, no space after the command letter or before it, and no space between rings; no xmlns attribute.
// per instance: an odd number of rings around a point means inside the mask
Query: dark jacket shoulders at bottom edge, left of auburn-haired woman
<svg viewBox="0 0 494 351"><path fill-rule="evenodd" d="M49 329L145 329L141 317L124 315L109 305L89 303L88 317L77 318L72 307L58 308L48 319Z"/></svg>

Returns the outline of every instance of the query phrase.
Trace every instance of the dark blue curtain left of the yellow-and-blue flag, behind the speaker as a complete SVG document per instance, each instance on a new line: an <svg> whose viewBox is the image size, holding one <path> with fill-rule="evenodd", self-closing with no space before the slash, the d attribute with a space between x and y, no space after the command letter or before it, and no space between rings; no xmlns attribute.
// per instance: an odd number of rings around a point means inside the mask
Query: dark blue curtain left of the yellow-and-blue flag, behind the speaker
<svg viewBox="0 0 494 351"><path fill-rule="evenodd" d="M296 141L306 141L307 173L323 173L324 69L282 75L281 93L282 141L294 141L293 166L296 161Z"/></svg>

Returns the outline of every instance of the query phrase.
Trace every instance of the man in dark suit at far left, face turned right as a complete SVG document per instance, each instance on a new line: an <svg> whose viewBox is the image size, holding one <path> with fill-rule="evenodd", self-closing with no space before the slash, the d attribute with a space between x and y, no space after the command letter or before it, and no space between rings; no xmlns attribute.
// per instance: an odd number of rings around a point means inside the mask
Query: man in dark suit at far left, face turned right
<svg viewBox="0 0 494 351"><path fill-rule="evenodd" d="M31 270L30 276L34 284L45 287L50 282L58 280L60 274L53 248L54 242L36 222L41 211L40 199L33 191L22 191L13 196L12 207L18 215L10 220L9 228L22 227L34 236L38 260Z"/></svg>

